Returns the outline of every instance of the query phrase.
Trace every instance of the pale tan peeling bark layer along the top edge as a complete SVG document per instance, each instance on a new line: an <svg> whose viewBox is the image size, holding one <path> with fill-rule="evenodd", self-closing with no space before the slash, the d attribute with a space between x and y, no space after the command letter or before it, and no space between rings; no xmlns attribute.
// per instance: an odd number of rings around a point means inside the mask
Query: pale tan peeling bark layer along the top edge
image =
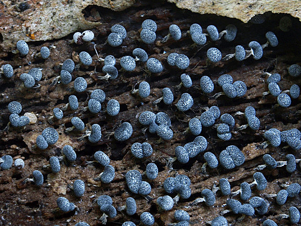
<svg viewBox="0 0 301 226"><path fill-rule="evenodd" d="M247 23L252 17L269 12L274 14L290 14L301 19L300 2L298 0L167 0L181 9L188 9L199 14L237 18ZM90 30L101 24L101 13L91 11L86 20L83 11L95 6L113 11L122 11L129 7L144 6L144 0L51 0L27 1L18 5L12 0L2 0L0 9L0 46L3 50L14 47L17 40L46 41L60 39L79 30ZM163 2L160 1L162 4ZM296 10L299 9L299 10ZM41 19L43 18L43 19ZM2 43L1 43L2 42Z"/></svg>

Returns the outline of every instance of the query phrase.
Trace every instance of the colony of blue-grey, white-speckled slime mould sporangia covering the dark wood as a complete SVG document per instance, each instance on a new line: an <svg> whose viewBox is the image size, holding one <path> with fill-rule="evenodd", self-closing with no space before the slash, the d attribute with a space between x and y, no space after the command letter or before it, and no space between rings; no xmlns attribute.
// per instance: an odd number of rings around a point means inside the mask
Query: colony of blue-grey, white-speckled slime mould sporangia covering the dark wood
<svg viewBox="0 0 301 226"><path fill-rule="evenodd" d="M157 25L151 19L146 19L142 23L142 30L140 33L141 40L147 44L151 44L156 39L156 30ZM123 39L126 37L127 32L125 28L121 25L114 25L111 28L112 33L107 38L107 43L113 47L120 46L122 44ZM236 27L234 25L228 25L224 31L218 33L217 28L213 25L210 25L206 29L207 33L202 33L202 28L199 24L192 24L190 30L187 32L190 34L193 42L196 45L204 45L206 43L207 37L209 37L213 42L220 39L222 36L225 41L233 41L236 36ZM171 37L175 40L181 39L182 32L180 28L173 24L169 27L169 34L161 41L167 42L167 40ZM249 47L251 50L245 50L242 46L235 47L235 53L226 55L223 59L229 60L232 57L235 57L237 61L242 61L251 55L255 60L260 59L263 56L263 49L268 45L275 47L278 45L278 39L276 35L272 32L268 32L266 34L267 43L264 45L260 45L256 41L251 41L249 43ZM73 41L76 44L83 44L83 42L89 42L94 38L94 34L91 31L85 31L83 33L75 33L73 36ZM28 45L24 41L17 42L17 51L21 55L26 55L29 51ZM50 50L47 47L42 47L41 52L38 54L42 58L46 59L50 55ZM97 53L98 55L98 53ZM135 69L136 61L140 61L142 63L146 62L146 68L150 71L150 73L160 73L163 70L163 66L161 62L155 58L149 58L147 52L140 48L136 48L133 51L132 56L123 56L120 59L121 67L126 71L132 71ZM83 65L90 65L92 63L92 57L87 52L80 52L79 58ZM207 51L207 58L212 63L216 63L222 59L222 54L217 48L210 48ZM99 77L100 79L117 79L118 70L115 67L116 60L112 55L106 56L104 59L99 57L99 61L104 61L104 66L102 71L105 73L104 76ZM180 70L185 70L189 66L189 58L184 54L171 53L167 57L167 63L170 66L174 66L179 68ZM71 59L67 59L63 65L60 76L55 78L53 82L57 83L58 79L61 79L61 82L64 85L67 85L72 80L72 71L75 68L75 64ZM9 64L3 65L1 67L1 72L5 77L10 78L14 75L13 68ZM301 67L299 65L292 65L289 68L289 74L293 77L300 76ZM20 79L24 82L24 86L31 88L40 81L42 78L42 72L40 69L34 68L30 70L28 73L23 73L20 76ZM291 98L298 98L300 93L300 88L297 85L293 85L290 90L286 90L281 93L281 90L277 83L280 81L279 74L269 74L268 77L268 89L269 93L273 96L277 96L278 104L282 107L288 107L291 104L290 97L285 93L289 92ZM242 97L245 95L247 91L247 87L242 81L233 82L233 78L229 74L221 75L218 78L218 85L222 87L223 92L217 93L216 98L219 95L226 95L229 98ZM188 74L181 75L181 85L184 87L191 87L192 80ZM208 76L202 76L200 79L201 90L204 93L211 93L214 90L214 83ZM74 81L74 90L76 92L84 92L86 90L87 83L84 78L78 77ZM150 95L151 87L147 82L141 82L139 84L138 89L134 89L132 94L138 92L141 98L146 98ZM266 93L267 95L268 93ZM79 103L77 97L75 95L70 95L69 103L60 108L53 109L53 115L57 120L61 120L63 118L63 110L65 111L69 106L71 110L76 110L79 107ZM90 99L88 102L88 106L85 110L89 109L91 113L96 114L101 110L101 104L105 100L105 93L101 89L95 89L91 92ZM155 101L159 103L161 100L165 104L172 104L174 97L170 88L166 87L162 89L162 98ZM179 101L175 104L179 111L187 111L193 105L193 98L188 93L183 93ZM110 100L106 106L106 112L110 116L116 116L119 112L119 103L117 100ZM11 112L10 115L10 123L14 127L25 126L30 123L30 119L27 116L20 116L19 114L22 111L22 106L20 103L13 101L8 104L8 109ZM245 109L245 112L240 114L244 114L248 124L241 126L240 129L244 129L249 126L253 130L258 130L260 126L259 119L255 116L255 109L251 106L248 106ZM180 163L185 164L189 161L189 158L195 157L201 152L204 152L207 148L207 140L199 136L201 134L202 126L211 127L214 125L215 121L220 117L220 121L222 123L217 124L217 137L223 140L231 139L231 130L234 128L235 121L233 116L230 114L223 114L220 116L220 111L217 106L212 106L207 109L207 111L203 112L200 117L195 117L189 121L189 130L191 134L194 136L198 136L194 139L193 142L186 143L184 146L178 146L175 148L175 158L171 159L169 162L169 166L171 168L171 163L178 160ZM52 118L49 119L49 122L52 122ZM169 140L173 138L173 131L170 129L171 121L168 115L164 112L158 112L157 114L151 111L145 111L140 113L139 122L142 125L149 126L150 133L156 133L160 139ZM78 118L73 117L71 119L72 127L67 128L67 132L74 130L83 131L85 128L84 122ZM125 141L132 136L133 128L129 122L123 122L117 130L114 132L115 139L117 141ZM85 131L85 135L81 137L88 137L88 140L92 143L96 143L101 139L101 129L100 125L93 124L91 131ZM279 131L275 128L269 129L265 132L264 137L268 140L265 142L265 146L268 144L272 146L279 146L281 142L286 142L290 147L294 150L301 149L301 133L297 129L290 129L287 131ZM41 135L36 138L36 146L42 150L47 149L49 145L53 145L58 141L59 135L54 128L48 127L45 128ZM136 158L145 158L151 156L152 147L148 142L144 143L134 143L131 148L131 152ZM217 168L218 159L211 152L204 153L204 159L206 163L203 164L202 171L206 172L206 166L208 165L210 168ZM111 166L110 158L103 153L102 151L98 151L94 154L95 161L100 163L101 166L104 167L103 173L101 173L95 180L101 180L102 183L110 183L115 177L115 169ZM62 156L52 156L50 157L50 167L53 173L60 172L60 161L65 159L65 161L74 162L76 160L76 153L73 150L73 147L70 145L66 145L62 149ZM286 165L286 171L292 173L296 170L296 163L300 161L300 159L295 159L295 156L289 154L286 156L286 161L276 161L270 155L264 155L263 160L265 162L264 165L258 166L257 170L262 170L265 167L268 168L276 168L282 167ZM11 168L13 164L12 156L6 155L0 158L1 168L3 170L7 170ZM234 145L228 146L225 150L223 150L219 155L219 163L220 165L227 169L231 170L235 167L241 166L245 162L245 156L239 150L238 147ZM88 162L92 163L92 162ZM19 169L24 167L24 161L21 158L17 158L15 160L15 166ZM158 168L156 164L149 163L146 167L145 172L147 178L149 180L156 179L158 175ZM151 185L147 181L142 180L142 174L140 174L137 170L130 170L126 173L126 183L128 188L134 194L140 194L145 198L151 198L148 196L151 192ZM268 202L261 197L251 197L252 191L251 188L255 185L256 189L262 191L267 187L267 180L265 176L256 172L253 174L254 181L252 183L243 182L240 185L240 190L231 192L230 183L227 178L221 178L219 180L219 186L213 186L212 190L204 189L201 192L202 198L197 198L192 205L196 205L200 202L205 202L205 204L209 207L213 207L216 202L215 194L217 190L220 190L222 195L232 195L235 196L240 193L240 198L242 201L246 202L249 200L247 204L241 204L238 200L229 198L227 200L226 205L229 207L229 210L225 210L221 215L226 212L232 211L234 214L243 214L252 216L255 213L255 210L259 215L263 215L268 211ZM43 184L43 175L40 171L33 171L33 179L26 179L25 181L33 181L35 185L42 186ZM25 182L24 181L24 182ZM165 191L168 195L161 196L157 198L157 204L159 209L168 211L173 208L174 204L176 204L180 198L187 199L191 195L190 189L190 179L188 176L183 174L178 174L175 177L168 177L164 181L163 185ZM84 195L85 184L82 180L76 180L71 186L71 189L74 191L74 195L77 197L81 197ZM286 190L281 190L277 194L269 194L269 197L276 197L276 203L278 205L283 205L287 198L295 197L300 192L300 185L297 183L293 183L287 186ZM173 198L170 195L175 195ZM108 195L101 195L97 199L97 204L100 207L100 210L103 212L102 217L100 218L103 224L106 223L106 218L114 218L117 215L117 210L122 211L126 209L126 213L128 215L133 215L136 212L136 202L134 198L129 197L126 200L126 206L118 207L117 209L113 206L112 198ZM74 209L79 210L73 203L70 203L67 198L59 197L57 199L57 206L60 210L64 212L69 212ZM184 210L176 210L174 214L175 219L178 223L175 223L176 226L189 226L190 217L188 213ZM289 209L289 215L282 214L282 217L289 217L292 224L297 224L300 220L300 212L297 208L291 207ZM154 224L154 216L149 212L143 212L140 215L141 222L146 226L151 226ZM228 222L226 218L223 216L218 216L214 218L211 222L208 222L212 226L227 226ZM263 226L276 226L277 224L272 220L266 220L263 222ZM88 226L85 222L77 223L75 226ZM122 226L134 226L133 222L125 222Z"/></svg>

